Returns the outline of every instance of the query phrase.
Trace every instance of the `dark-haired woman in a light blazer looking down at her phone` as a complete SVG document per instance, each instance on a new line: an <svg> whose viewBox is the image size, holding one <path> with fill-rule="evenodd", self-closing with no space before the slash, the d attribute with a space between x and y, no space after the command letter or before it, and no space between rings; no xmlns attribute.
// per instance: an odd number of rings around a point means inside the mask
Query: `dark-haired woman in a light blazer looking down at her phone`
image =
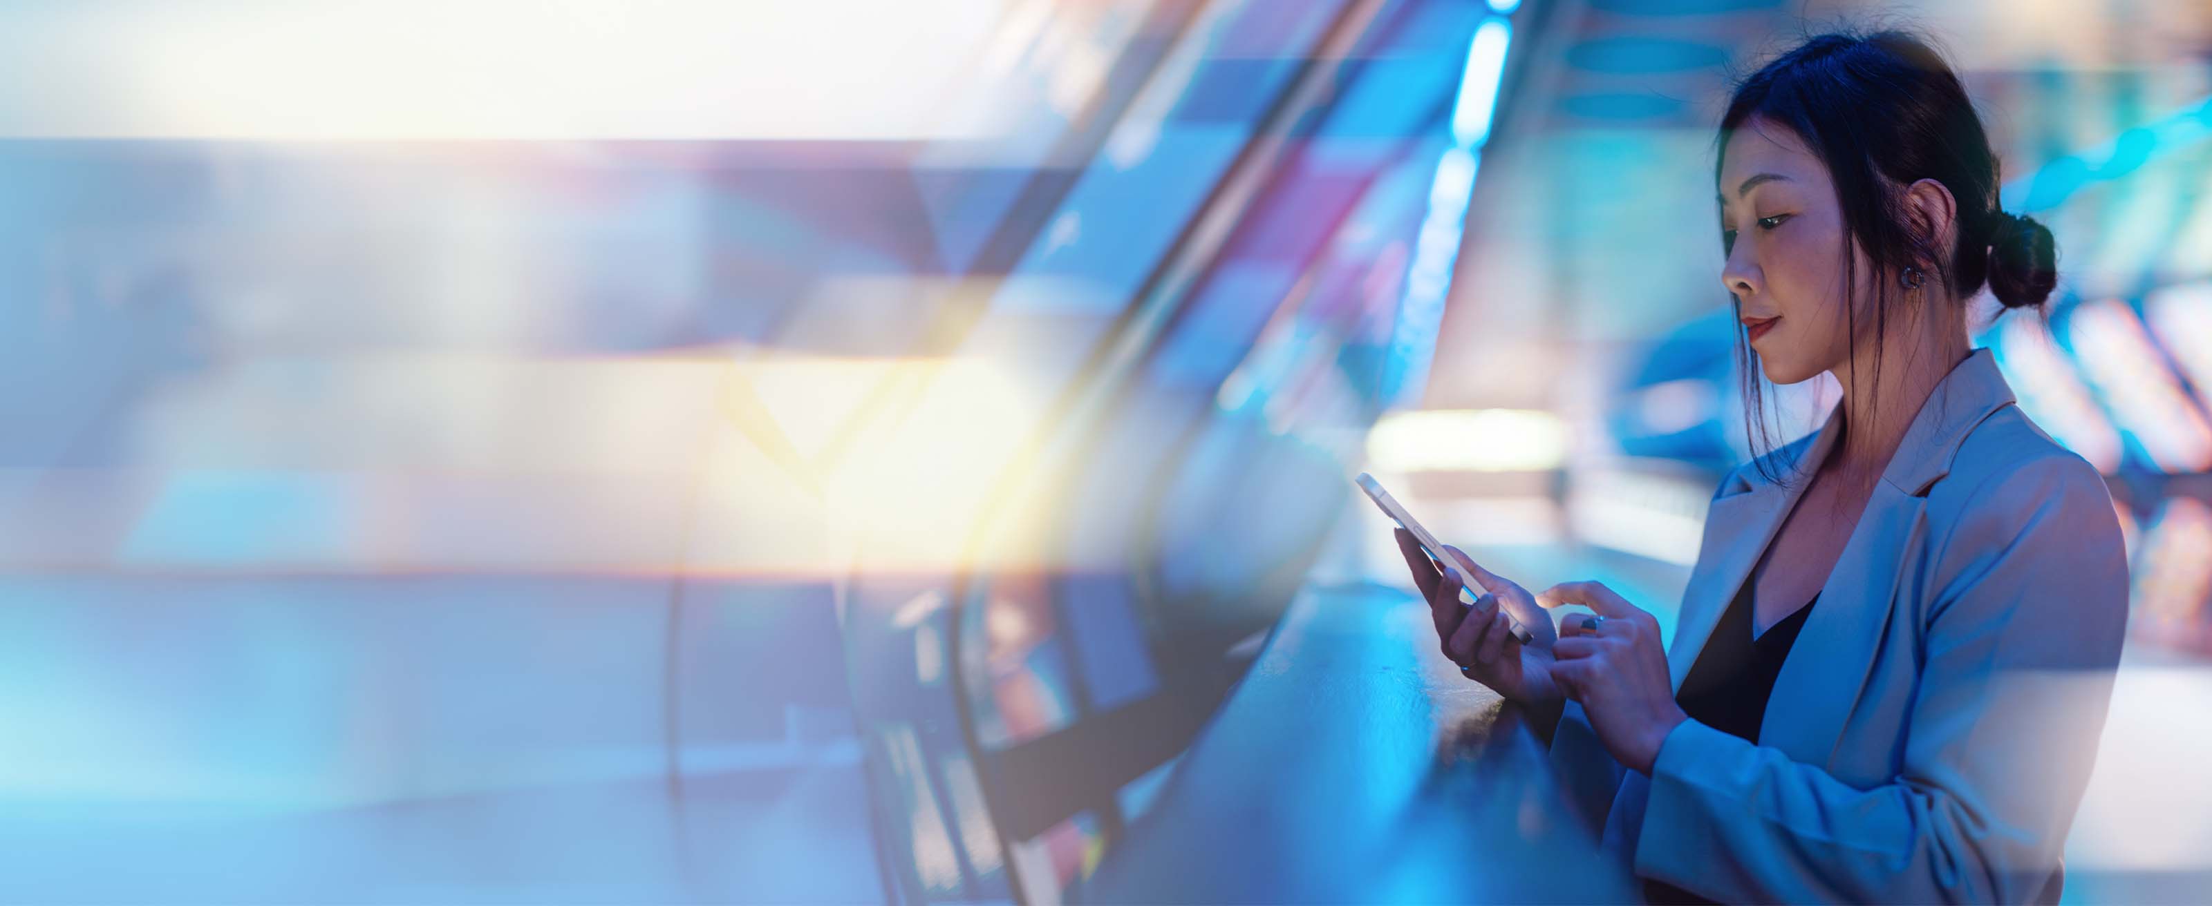
<svg viewBox="0 0 2212 906"><path fill-rule="evenodd" d="M1599 583L1438 572L1447 656L1555 725L1606 851L1655 902L2057 902L2126 630L2104 480L2013 407L1966 303L2039 309L2051 232L1924 42L1820 35L1721 119L1721 283L1756 362L1832 373L1816 433L1712 497L1672 650ZM1473 608L1460 588L1484 594ZM1553 652L1504 610L1588 605ZM1462 617L1464 614L1464 617Z"/></svg>

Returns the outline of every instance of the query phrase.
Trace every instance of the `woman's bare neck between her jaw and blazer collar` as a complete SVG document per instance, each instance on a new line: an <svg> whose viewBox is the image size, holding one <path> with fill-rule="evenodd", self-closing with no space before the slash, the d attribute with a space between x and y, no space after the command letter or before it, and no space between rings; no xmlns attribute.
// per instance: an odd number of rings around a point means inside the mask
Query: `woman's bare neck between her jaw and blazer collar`
<svg viewBox="0 0 2212 906"><path fill-rule="evenodd" d="M1865 345L1843 367L1832 369L1836 384L1843 387L1838 407L1845 431L1825 468L1871 482L1889 466L1929 393L1973 351L1962 325L1938 320L1947 323L1898 331L1896 343L1880 347L1880 365L1876 347Z"/></svg>

